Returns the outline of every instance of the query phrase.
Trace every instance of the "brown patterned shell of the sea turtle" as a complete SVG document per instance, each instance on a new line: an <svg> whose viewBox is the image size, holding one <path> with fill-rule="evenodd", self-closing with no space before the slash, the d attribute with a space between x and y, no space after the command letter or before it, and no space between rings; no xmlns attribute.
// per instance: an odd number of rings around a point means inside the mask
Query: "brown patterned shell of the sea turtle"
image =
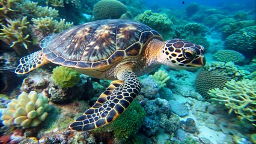
<svg viewBox="0 0 256 144"><path fill-rule="evenodd" d="M145 43L160 34L129 20L97 20L44 38L40 46L51 62L90 69L111 65L143 52Z"/></svg>

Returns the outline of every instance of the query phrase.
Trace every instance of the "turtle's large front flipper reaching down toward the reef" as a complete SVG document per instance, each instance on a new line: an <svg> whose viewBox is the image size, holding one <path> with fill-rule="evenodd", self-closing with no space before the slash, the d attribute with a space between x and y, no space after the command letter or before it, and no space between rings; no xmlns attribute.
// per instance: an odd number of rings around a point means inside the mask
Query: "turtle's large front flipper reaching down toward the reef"
<svg viewBox="0 0 256 144"><path fill-rule="evenodd" d="M103 127L120 116L141 91L141 84L134 73L127 72L122 77L124 81L111 82L93 107L86 110L69 127L75 131L90 131Z"/></svg>

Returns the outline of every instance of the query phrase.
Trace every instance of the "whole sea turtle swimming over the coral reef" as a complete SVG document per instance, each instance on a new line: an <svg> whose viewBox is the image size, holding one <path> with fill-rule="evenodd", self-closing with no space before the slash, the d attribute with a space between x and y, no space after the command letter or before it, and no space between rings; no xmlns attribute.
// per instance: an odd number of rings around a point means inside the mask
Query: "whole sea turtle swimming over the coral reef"
<svg viewBox="0 0 256 144"><path fill-rule="evenodd" d="M141 91L138 76L163 64L187 69L206 64L204 48L181 39L163 41L161 35L130 20L97 20L44 38L42 50L20 59L17 74L44 64L73 68L88 76L114 80L96 103L70 128L90 131L114 121Z"/></svg>

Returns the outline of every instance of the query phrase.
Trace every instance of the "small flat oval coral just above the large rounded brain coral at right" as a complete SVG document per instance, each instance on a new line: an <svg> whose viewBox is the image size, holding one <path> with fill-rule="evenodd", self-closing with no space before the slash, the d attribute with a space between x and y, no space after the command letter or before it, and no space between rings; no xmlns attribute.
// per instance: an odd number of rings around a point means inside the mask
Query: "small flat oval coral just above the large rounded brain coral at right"
<svg viewBox="0 0 256 144"><path fill-rule="evenodd" d="M221 62L242 62L245 56L234 50L218 50L213 54L213 57Z"/></svg>

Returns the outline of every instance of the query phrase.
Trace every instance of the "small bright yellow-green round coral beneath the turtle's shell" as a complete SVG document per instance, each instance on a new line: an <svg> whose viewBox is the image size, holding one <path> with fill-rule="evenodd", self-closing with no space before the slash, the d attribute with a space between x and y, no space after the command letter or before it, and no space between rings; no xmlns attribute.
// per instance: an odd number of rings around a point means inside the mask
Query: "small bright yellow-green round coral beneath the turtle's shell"
<svg viewBox="0 0 256 144"><path fill-rule="evenodd" d="M52 79L61 88L72 88L78 83L80 76L72 68L59 66L53 69Z"/></svg>

